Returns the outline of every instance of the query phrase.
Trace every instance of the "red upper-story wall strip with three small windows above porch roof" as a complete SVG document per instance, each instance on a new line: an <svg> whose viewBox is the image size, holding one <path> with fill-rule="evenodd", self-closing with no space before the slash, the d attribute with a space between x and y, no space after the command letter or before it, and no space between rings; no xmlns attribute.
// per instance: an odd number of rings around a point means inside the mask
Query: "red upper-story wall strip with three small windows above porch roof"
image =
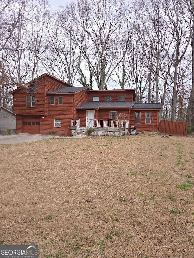
<svg viewBox="0 0 194 258"><path fill-rule="evenodd" d="M115 92L113 91L88 91L88 101L93 101L93 97L99 97L99 101L105 101L105 96L112 96L112 101L118 101L118 96L125 96L125 101L134 101L131 91Z"/></svg>

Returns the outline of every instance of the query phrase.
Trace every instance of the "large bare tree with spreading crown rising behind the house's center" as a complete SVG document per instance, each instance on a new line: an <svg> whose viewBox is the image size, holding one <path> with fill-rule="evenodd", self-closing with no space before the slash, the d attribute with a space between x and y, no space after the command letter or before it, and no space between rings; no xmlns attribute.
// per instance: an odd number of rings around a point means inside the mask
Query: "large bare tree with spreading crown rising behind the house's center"
<svg viewBox="0 0 194 258"><path fill-rule="evenodd" d="M74 38L99 89L106 89L118 65L117 50L122 44L122 33L128 35L124 0L79 0L67 7L76 21ZM126 50L129 38L125 42ZM125 51L126 51L125 50ZM124 56L120 57L119 62Z"/></svg>

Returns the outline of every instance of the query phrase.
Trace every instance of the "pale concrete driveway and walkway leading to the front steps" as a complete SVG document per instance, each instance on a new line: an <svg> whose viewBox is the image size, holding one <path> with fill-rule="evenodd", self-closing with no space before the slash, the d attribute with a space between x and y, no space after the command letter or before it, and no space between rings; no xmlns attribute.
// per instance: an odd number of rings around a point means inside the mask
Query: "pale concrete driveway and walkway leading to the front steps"
<svg viewBox="0 0 194 258"><path fill-rule="evenodd" d="M67 139L67 138L84 138L86 136L55 136L55 139ZM11 135L0 135L0 145L2 144L18 144L24 142L34 142L44 139L52 139L50 135L42 135L42 134L27 134L27 133L19 133L19 134L11 134Z"/></svg>

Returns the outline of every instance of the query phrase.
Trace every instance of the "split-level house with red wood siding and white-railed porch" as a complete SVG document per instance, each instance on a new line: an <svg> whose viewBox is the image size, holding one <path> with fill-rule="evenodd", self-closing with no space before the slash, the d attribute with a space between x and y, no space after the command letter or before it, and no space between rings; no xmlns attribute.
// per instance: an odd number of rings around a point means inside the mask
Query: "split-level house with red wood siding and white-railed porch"
<svg viewBox="0 0 194 258"><path fill-rule="evenodd" d="M74 87L48 73L13 94L16 133L75 135L80 127L94 127L96 135L157 132L160 104L137 104L135 90L90 90ZM118 122L118 120L120 122Z"/></svg>

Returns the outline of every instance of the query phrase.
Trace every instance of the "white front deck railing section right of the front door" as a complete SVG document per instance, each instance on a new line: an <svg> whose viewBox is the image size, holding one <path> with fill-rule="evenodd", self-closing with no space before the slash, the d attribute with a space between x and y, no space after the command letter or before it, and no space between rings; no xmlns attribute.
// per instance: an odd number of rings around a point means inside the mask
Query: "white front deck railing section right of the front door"
<svg viewBox="0 0 194 258"><path fill-rule="evenodd" d="M129 121L125 120L99 120L99 119L91 119L88 122L87 128L90 127L98 127L98 128L119 128L126 129L129 126Z"/></svg>

